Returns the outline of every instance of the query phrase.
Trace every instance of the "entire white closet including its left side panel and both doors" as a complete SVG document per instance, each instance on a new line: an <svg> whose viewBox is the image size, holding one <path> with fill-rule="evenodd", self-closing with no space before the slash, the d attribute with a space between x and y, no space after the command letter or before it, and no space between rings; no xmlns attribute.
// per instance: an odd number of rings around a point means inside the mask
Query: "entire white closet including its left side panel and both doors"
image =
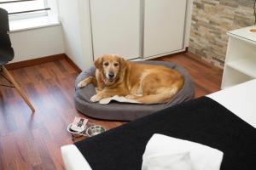
<svg viewBox="0 0 256 170"><path fill-rule="evenodd" d="M102 54L145 60L182 52L189 37L192 0L58 0L58 4L65 53L81 69ZM187 6L191 6L188 12Z"/></svg>

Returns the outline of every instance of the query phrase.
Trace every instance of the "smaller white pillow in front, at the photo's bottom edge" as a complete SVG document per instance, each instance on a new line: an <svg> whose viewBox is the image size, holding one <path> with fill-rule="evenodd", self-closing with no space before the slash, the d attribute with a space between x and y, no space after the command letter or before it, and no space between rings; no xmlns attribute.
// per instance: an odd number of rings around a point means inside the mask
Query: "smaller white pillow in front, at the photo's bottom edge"
<svg viewBox="0 0 256 170"><path fill-rule="evenodd" d="M142 170L191 170L189 152L148 156Z"/></svg>

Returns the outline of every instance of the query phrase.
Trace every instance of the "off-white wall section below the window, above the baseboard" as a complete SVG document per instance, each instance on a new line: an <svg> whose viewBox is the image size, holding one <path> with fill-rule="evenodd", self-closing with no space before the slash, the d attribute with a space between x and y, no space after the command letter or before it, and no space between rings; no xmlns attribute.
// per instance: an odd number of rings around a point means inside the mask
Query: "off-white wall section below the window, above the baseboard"
<svg viewBox="0 0 256 170"><path fill-rule="evenodd" d="M61 26L10 32L10 39L15 49L12 62L64 53Z"/></svg>

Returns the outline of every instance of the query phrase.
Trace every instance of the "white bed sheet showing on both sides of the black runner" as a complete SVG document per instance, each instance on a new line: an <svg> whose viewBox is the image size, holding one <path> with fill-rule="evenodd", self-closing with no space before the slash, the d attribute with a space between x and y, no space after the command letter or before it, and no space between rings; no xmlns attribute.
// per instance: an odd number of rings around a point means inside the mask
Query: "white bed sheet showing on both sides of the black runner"
<svg viewBox="0 0 256 170"><path fill-rule="evenodd" d="M256 79L209 94L207 97L224 105L256 128ZM74 144L62 146L61 155L67 170L91 170L89 163Z"/></svg>

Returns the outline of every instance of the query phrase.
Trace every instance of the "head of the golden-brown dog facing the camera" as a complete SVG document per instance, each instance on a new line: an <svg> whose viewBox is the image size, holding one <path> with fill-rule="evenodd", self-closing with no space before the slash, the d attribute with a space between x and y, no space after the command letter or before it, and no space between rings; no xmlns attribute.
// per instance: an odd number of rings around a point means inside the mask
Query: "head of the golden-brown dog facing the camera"
<svg viewBox="0 0 256 170"><path fill-rule="evenodd" d="M105 81L108 85L113 84L120 75L120 72L126 68L126 61L119 55L106 54L98 58L94 62L96 68L102 71Z"/></svg>

